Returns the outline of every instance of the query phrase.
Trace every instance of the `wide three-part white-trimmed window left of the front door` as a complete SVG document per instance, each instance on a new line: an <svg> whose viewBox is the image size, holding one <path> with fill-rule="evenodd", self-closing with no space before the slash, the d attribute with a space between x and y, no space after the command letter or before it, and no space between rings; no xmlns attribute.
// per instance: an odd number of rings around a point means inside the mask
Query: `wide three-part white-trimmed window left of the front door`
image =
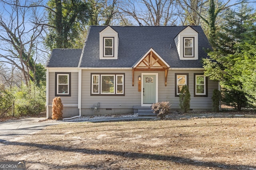
<svg viewBox="0 0 256 170"><path fill-rule="evenodd" d="M92 74L91 95L124 96L124 74Z"/></svg>

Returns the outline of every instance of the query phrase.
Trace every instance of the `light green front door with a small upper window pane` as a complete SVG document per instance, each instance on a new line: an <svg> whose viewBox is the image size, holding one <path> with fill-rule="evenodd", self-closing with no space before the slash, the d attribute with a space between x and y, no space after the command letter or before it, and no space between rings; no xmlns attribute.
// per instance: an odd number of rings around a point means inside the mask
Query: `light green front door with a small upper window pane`
<svg viewBox="0 0 256 170"><path fill-rule="evenodd" d="M156 75L143 76L143 104L156 102Z"/></svg>

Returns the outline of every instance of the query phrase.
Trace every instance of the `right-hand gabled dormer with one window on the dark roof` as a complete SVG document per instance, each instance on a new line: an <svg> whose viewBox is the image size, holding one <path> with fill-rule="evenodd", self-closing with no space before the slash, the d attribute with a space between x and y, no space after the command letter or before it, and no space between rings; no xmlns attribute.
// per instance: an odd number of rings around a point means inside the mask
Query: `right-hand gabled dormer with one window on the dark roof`
<svg viewBox="0 0 256 170"><path fill-rule="evenodd" d="M174 38L180 60L198 60L198 32L188 26Z"/></svg>

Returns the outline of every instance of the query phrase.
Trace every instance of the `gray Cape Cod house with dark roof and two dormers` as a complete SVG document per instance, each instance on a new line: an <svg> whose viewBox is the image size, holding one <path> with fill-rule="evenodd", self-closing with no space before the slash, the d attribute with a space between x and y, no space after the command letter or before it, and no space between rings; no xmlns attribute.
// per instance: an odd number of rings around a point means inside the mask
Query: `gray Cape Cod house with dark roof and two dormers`
<svg viewBox="0 0 256 170"><path fill-rule="evenodd" d="M210 48L200 26L90 26L83 49L53 49L46 65L47 117L61 96L64 117L137 112L169 101L180 109L212 109L218 82L203 75Z"/></svg>

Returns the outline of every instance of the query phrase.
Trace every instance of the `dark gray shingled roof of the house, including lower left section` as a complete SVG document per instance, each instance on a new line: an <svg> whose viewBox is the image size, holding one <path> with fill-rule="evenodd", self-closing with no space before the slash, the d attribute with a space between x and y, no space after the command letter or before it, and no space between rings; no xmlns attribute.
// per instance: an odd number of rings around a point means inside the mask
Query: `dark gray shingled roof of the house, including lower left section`
<svg viewBox="0 0 256 170"><path fill-rule="evenodd" d="M153 48L171 68L202 68L204 49L211 48L200 26L190 26L198 32L198 60L180 60L174 38L187 26L112 26L118 32L118 59L100 60L100 34L106 26L90 26L83 49L54 49L47 67L132 68ZM80 54L80 55L79 55Z"/></svg>

